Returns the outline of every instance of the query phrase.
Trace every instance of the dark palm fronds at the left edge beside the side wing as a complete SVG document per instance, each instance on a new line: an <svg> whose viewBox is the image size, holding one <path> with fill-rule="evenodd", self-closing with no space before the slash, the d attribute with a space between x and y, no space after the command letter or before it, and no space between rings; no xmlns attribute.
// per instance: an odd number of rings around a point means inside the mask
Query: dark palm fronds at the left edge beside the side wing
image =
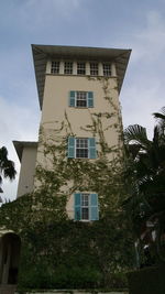
<svg viewBox="0 0 165 294"><path fill-rule="evenodd" d="M2 183L2 178L14 179L15 174L14 162L8 159L7 148L0 148L0 184Z"/></svg>

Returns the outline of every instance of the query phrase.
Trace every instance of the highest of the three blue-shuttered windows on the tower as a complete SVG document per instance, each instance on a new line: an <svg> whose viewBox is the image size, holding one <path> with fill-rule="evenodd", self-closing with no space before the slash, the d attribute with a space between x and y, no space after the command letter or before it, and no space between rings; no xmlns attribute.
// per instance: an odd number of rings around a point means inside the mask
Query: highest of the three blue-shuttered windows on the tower
<svg viewBox="0 0 165 294"><path fill-rule="evenodd" d="M94 92L92 91L70 91L69 106L85 108L94 107Z"/></svg>

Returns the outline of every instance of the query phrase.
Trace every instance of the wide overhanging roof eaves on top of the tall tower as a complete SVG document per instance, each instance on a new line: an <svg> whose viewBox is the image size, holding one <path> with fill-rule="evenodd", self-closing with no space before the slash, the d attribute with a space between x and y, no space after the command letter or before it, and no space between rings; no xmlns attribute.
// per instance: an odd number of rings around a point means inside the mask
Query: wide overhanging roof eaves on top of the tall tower
<svg viewBox="0 0 165 294"><path fill-rule="evenodd" d="M117 65L118 85L120 92L128 67L131 50L32 44L32 53L40 106L42 108L46 62L48 58L64 58L77 61L88 59L100 62L113 61Z"/></svg>

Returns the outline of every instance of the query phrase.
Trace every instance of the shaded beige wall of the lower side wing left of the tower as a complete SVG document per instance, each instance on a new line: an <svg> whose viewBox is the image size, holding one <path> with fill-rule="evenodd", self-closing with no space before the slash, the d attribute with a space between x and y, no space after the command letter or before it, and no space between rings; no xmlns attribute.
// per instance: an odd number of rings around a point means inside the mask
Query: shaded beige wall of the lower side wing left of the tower
<svg viewBox="0 0 165 294"><path fill-rule="evenodd" d="M24 146L18 186L18 197L31 193L34 185L36 146Z"/></svg>

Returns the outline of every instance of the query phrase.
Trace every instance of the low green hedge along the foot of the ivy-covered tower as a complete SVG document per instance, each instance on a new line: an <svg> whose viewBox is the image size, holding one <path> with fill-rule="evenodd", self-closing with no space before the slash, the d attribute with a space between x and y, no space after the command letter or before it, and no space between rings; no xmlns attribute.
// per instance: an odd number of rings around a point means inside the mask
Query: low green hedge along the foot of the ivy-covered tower
<svg viewBox="0 0 165 294"><path fill-rule="evenodd" d="M100 286L101 273L91 268L59 265L48 269L48 264L29 269L20 288L95 288ZM23 282L23 283L22 283Z"/></svg>

